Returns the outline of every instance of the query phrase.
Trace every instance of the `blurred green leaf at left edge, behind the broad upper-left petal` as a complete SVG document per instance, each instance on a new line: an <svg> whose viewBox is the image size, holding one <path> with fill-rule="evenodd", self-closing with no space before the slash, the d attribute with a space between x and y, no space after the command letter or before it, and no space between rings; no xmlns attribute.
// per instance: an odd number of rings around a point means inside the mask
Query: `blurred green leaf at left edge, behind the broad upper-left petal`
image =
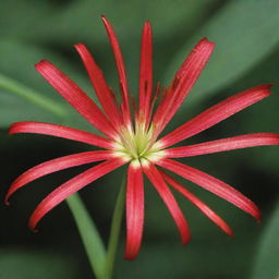
<svg viewBox="0 0 279 279"><path fill-rule="evenodd" d="M71 63L47 49L11 40L0 41L0 73L5 77L1 80L2 86L0 88L1 126L7 126L15 121L27 120L88 126L82 117L34 69L35 63L41 59L47 59L61 68L90 95L93 89L89 82L86 81L86 76L81 76ZM11 90L13 93L17 90L20 97L11 94ZM20 95L19 90L21 92ZM28 93L26 94L26 92ZM51 107L51 104L56 104L57 108L61 107L64 111L63 118L34 105L34 101L36 105L41 105L44 100L48 100L48 108Z"/></svg>

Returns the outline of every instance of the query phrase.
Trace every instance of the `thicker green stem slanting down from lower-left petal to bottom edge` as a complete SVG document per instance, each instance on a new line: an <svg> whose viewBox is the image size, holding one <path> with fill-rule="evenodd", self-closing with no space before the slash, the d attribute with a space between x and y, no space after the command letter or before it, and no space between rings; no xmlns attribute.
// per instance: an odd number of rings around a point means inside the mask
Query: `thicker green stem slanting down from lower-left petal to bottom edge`
<svg viewBox="0 0 279 279"><path fill-rule="evenodd" d="M102 240L80 195L77 193L71 195L66 202L74 217L92 269L96 278L101 279L106 260L106 251Z"/></svg>

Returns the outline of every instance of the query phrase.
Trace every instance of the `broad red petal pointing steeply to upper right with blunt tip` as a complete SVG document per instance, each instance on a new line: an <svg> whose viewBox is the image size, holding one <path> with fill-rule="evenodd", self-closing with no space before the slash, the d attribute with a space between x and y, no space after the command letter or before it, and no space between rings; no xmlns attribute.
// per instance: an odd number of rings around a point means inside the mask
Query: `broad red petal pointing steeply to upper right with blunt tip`
<svg viewBox="0 0 279 279"><path fill-rule="evenodd" d="M170 88L155 112L153 122L160 133L169 123L181 104L194 86L209 57L214 50L214 44L203 38L192 50L190 56L175 74Z"/></svg>

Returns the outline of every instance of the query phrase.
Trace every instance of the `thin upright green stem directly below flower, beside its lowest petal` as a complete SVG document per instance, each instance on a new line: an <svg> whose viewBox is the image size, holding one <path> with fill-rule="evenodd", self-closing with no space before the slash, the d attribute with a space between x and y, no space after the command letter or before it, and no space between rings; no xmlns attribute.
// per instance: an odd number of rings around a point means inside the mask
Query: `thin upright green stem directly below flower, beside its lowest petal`
<svg viewBox="0 0 279 279"><path fill-rule="evenodd" d="M116 253L117 253L118 243L119 243L121 221L122 221L123 211L124 211L124 204L125 204L125 178L123 179L122 186L118 194L117 204L116 204L113 216L112 216L108 252L107 252L107 258L106 258L105 270L104 270L104 279L112 278Z"/></svg>

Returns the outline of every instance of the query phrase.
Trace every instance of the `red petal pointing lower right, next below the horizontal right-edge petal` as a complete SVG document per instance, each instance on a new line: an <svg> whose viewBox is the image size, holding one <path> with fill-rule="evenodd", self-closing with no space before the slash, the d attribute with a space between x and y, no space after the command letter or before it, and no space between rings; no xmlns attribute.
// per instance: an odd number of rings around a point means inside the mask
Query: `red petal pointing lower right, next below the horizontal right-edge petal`
<svg viewBox="0 0 279 279"><path fill-rule="evenodd" d="M182 178L204 187L205 190L214 193L217 196L222 197L229 203L241 208L245 213L252 215L257 220L260 220L260 211L257 206L241 194L239 191L228 185L227 183L201 171L194 169L190 166L183 165L181 162L171 159L161 159L156 161L156 163L162 168L166 168Z"/></svg>

